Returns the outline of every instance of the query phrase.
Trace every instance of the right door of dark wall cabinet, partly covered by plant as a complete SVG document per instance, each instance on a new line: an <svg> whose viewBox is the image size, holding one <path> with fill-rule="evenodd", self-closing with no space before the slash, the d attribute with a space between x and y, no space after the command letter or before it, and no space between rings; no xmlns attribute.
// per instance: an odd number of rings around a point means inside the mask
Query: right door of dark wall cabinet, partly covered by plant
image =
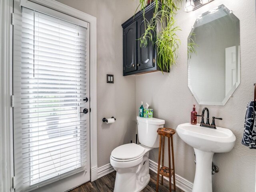
<svg viewBox="0 0 256 192"><path fill-rule="evenodd" d="M147 22L150 22L151 18L153 17L153 10L145 14L146 18L146 26ZM141 16L138 19L138 39L142 36L142 34L145 33L145 22L144 18ZM154 34L151 31L152 34ZM154 39L154 36L153 36ZM137 49L138 49L138 70L145 69L145 68L150 68L154 66L154 48L152 46L152 42L148 40L148 44L146 47L140 45L140 40L137 41Z"/></svg>

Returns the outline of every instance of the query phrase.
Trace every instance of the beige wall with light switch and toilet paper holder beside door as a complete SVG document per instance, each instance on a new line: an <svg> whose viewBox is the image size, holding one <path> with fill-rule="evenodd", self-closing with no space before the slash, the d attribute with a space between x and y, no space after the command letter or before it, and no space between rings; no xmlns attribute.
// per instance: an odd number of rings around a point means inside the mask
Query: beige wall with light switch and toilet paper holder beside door
<svg viewBox="0 0 256 192"><path fill-rule="evenodd" d="M114 148L135 140L135 76L122 76L123 42L121 24L137 6L133 0L58 0L97 18L97 139L98 167L110 162ZM106 83L114 74L114 84ZM114 124L102 118L114 116Z"/></svg>

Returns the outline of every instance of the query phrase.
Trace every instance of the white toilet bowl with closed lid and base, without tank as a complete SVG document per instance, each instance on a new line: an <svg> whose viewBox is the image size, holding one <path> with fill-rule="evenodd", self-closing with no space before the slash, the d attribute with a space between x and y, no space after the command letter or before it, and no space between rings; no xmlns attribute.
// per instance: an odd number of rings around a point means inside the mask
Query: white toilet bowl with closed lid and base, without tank
<svg viewBox="0 0 256 192"><path fill-rule="evenodd" d="M114 192L139 192L145 188L150 180L148 153L151 149L130 143L112 151L110 164L116 170Z"/></svg>

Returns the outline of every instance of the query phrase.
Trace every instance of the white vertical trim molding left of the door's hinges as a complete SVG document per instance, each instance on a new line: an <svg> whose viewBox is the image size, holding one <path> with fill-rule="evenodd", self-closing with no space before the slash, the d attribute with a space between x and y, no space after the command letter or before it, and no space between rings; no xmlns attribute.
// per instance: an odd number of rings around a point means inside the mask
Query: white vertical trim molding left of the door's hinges
<svg viewBox="0 0 256 192"><path fill-rule="evenodd" d="M11 192L12 136L12 0L0 0L0 191Z"/></svg>

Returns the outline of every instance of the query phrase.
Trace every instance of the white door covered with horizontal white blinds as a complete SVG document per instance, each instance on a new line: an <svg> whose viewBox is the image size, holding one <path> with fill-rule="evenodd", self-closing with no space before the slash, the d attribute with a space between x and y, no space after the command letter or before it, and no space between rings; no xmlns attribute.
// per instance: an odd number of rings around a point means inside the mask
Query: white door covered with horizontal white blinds
<svg viewBox="0 0 256 192"><path fill-rule="evenodd" d="M15 10L15 191L61 192L90 180L90 25L36 7Z"/></svg>

